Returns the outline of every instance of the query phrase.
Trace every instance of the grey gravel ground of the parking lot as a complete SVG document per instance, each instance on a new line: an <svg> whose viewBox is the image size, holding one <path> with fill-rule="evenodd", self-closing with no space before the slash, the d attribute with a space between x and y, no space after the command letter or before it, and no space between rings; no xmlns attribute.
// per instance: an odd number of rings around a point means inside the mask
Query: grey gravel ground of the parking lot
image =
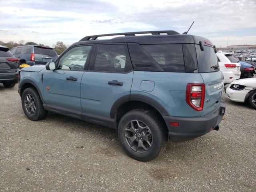
<svg viewBox="0 0 256 192"><path fill-rule="evenodd" d="M18 86L0 84L0 191L256 191L256 110L227 103L220 130L168 142L150 162L128 157L115 130L48 113L30 121Z"/></svg>

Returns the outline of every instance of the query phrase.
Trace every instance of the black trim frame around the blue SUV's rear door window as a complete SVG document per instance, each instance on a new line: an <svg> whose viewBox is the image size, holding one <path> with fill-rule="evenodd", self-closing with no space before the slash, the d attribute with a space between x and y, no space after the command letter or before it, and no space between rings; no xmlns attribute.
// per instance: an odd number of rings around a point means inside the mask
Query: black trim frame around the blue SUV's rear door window
<svg viewBox="0 0 256 192"><path fill-rule="evenodd" d="M97 54L99 45L123 45L124 46L124 51L125 51L125 57L127 59L127 64L128 64L128 71L127 72L118 72L118 71L96 71L96 70L94 70L96 54ZM128 51L127 43L100 43L100 44L95 44L95 48L93 50L93 54L92 54L92 57L90 59L90 64L89 64L89 67L88 67L88 71L90 71L90 72L101 72L101 73L123 73L123 74L127 74L127 73L132 72L133 67L132 67L132 62L131 62L130 54L129 54L129 51Z"/></svg>

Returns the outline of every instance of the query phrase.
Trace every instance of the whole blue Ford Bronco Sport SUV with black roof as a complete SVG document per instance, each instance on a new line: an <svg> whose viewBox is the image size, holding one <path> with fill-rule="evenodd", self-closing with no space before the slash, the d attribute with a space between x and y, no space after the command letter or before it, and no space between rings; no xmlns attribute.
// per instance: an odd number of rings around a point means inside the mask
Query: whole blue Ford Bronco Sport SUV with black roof
<svg viewBox="0 0 256 192"><path fill-rule="evenodd" d="M119 37L98 40L113 35ZM30 120L51 111L117 129L126 153L148 161L168 139L218 130L223 79L210 40L131 32L86 36L55 62L23 68L18 92Z"/></svg>

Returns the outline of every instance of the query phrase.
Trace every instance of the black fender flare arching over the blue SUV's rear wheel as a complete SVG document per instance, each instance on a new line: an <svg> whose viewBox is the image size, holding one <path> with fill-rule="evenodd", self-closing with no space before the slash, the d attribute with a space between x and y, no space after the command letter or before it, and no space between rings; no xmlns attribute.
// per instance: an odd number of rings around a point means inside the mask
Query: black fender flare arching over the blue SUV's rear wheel
<svg viewBox="0 0 256 192"><path fill-rule="evenodd" d="M119 98L118 100L116 100L116 102L114 102L114 104L112 105L112 108L110 110L110 117L111 118L116 118L116 113L118 111L118 108L129 101L140 101L140 102L144 102L146 104L151 105L153 108L155 108L156 110L158 110L158 112L161 115L165 115L165 116L170 116L170 114L168 113L168 111L164 108L164 106L162 106L162 104L160 104L158 101L154 100L153 98L150 98L148 96L144 96L144 95L140 95L140 94L131 94L131 95L125 95L122 96L121 98Z"/></svg>

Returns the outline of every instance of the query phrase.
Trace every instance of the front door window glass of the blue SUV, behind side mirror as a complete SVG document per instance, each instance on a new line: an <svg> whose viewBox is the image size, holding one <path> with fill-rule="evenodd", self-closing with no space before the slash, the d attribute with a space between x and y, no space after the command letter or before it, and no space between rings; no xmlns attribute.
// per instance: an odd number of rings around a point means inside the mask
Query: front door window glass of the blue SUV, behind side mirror
<svg viewBox="0 0 256 192"><path fill-rule="evenodd" d="M84 70L92 46L74 47L66 52L59 60L58 69Z"/></svg>

